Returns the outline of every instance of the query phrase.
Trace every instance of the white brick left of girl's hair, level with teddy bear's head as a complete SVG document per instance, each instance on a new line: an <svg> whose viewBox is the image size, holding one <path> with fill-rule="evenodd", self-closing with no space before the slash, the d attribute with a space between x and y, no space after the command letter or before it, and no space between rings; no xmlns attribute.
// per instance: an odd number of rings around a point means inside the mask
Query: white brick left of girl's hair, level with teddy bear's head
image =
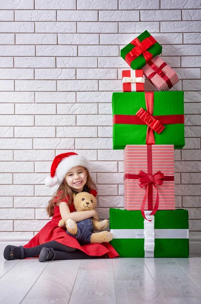
<svg viewBox="0 0 201 304"><path fill-rule="evenodd" d="M14 197L14 208L43 208L48 205L47 197Z"/></svg>

